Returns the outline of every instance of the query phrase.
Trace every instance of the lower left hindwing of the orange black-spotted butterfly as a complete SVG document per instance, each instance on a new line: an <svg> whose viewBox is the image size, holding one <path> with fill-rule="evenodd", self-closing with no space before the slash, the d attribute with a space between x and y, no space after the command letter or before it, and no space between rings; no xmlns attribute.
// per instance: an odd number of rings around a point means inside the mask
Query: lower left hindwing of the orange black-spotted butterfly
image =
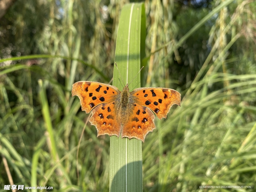
<svg viewBox="0 0 256 192"><path fill-rule="evenodd" d="M121 132L121 121L117 115L119 107L119 102L115 101L113 103L100 104L92 110L92 116L89 121L92 125L95 125L98 131L97 137L105 134L119 137Z"/></svg>

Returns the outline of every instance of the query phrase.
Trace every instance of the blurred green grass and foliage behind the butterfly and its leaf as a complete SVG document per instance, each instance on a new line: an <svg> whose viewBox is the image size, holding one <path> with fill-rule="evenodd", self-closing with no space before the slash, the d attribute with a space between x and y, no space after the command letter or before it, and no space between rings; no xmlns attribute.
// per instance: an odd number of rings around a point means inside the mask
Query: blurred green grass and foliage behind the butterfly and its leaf
<svg viewBox="0 0 256 192"><path fill-rule="evenodd" d="M77 175L88 114L70 91L79 80L111 80L126 3L17 0L0 18L0 190L13 182L109 191L110 137L97 138L90 123ZM145 63L141 86L176 89L182 103L155 120L142 144L143 190L256 184L256 2L144 3L146 57L166 46ZM17 56L24 57L6 60Z"/></svg>

